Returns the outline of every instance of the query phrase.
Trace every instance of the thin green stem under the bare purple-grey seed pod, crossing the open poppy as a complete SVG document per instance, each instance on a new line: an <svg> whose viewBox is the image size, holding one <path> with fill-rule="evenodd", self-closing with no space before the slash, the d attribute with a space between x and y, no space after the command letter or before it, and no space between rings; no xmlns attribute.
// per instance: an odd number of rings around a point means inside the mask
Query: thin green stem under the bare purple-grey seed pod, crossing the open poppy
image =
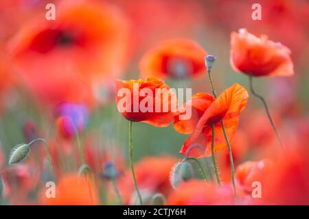
<svg viewBox="0 0 309 219"><path fill-rule="evenodd" d="M216 88L214 87L214 81L212 80L212 77L211 77L210 68L207 68L207 73L208 73L208 78L209 78L209 82L211 85L212 93L214 94L214 97L217 98L217 92L216 92ZM231 144L229 144L229 138L227 138L227 131L225 130L225 123L223 123L223 120L221 120L221 126L222 126L222 131L225 135L225 141L227 142L227 149L229 149L229 162L231 164L231 181L233 183L234 197L236 198L237 193L236 193L236 184L235 184L235 179L234 179L235 168L234 168L234 162L233 162L233 154L231 151Z"/></svg>

